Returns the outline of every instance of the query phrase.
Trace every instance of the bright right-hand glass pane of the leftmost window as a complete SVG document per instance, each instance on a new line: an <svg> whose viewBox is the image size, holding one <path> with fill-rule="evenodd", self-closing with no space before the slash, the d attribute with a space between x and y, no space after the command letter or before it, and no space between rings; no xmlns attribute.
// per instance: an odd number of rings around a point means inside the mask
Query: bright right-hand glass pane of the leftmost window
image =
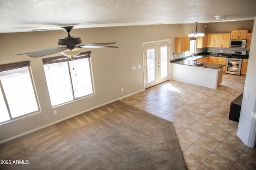
<svg viewBox="0 0 256 170"><path fill-rule="evenodd" d="M0 80L12 118L38 111L28 67L0 72Z"/></svg>

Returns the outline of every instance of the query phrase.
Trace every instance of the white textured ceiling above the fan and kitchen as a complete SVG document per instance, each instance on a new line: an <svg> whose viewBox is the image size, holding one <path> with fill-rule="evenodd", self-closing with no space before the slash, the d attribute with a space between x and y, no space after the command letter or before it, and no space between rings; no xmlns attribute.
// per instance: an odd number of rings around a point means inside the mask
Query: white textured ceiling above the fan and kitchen
<svg viewBox="0 0 256 170"><path fill-rule="evenodd" d="M0 0L0 33L254 20L256 0Z"/></svg>

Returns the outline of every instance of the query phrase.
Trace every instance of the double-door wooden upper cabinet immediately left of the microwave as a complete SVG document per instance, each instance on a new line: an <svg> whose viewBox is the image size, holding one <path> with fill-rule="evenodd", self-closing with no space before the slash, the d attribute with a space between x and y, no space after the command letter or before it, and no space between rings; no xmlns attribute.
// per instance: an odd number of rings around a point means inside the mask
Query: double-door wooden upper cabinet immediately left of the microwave
<svg viewBox="0 0 256 170"><path fill-rule="evenodd" d="M229 48L231 34L208 34L207 47Z"/></svg>

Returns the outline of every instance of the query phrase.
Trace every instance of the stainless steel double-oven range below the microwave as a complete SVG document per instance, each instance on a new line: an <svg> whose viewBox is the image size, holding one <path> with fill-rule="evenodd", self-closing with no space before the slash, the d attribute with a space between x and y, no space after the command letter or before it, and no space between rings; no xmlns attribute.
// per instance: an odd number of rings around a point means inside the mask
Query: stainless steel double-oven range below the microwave
<svg viewBox="0 0 256 170"><path fill-rule="evenodd" d="M230 57L226 58L225 73L240 75L244 55L246 51L231 51Z"/></svg>

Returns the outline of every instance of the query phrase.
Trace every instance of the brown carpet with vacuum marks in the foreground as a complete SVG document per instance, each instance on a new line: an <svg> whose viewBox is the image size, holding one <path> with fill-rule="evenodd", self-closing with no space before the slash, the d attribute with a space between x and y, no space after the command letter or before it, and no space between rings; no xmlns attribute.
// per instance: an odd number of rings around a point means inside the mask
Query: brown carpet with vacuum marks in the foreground
<svg viewBox="0 0 256 170"><path fill-rule="evenodd" d="M0 169L187 169L172 122L112 102L0 145Z"/></svg>

